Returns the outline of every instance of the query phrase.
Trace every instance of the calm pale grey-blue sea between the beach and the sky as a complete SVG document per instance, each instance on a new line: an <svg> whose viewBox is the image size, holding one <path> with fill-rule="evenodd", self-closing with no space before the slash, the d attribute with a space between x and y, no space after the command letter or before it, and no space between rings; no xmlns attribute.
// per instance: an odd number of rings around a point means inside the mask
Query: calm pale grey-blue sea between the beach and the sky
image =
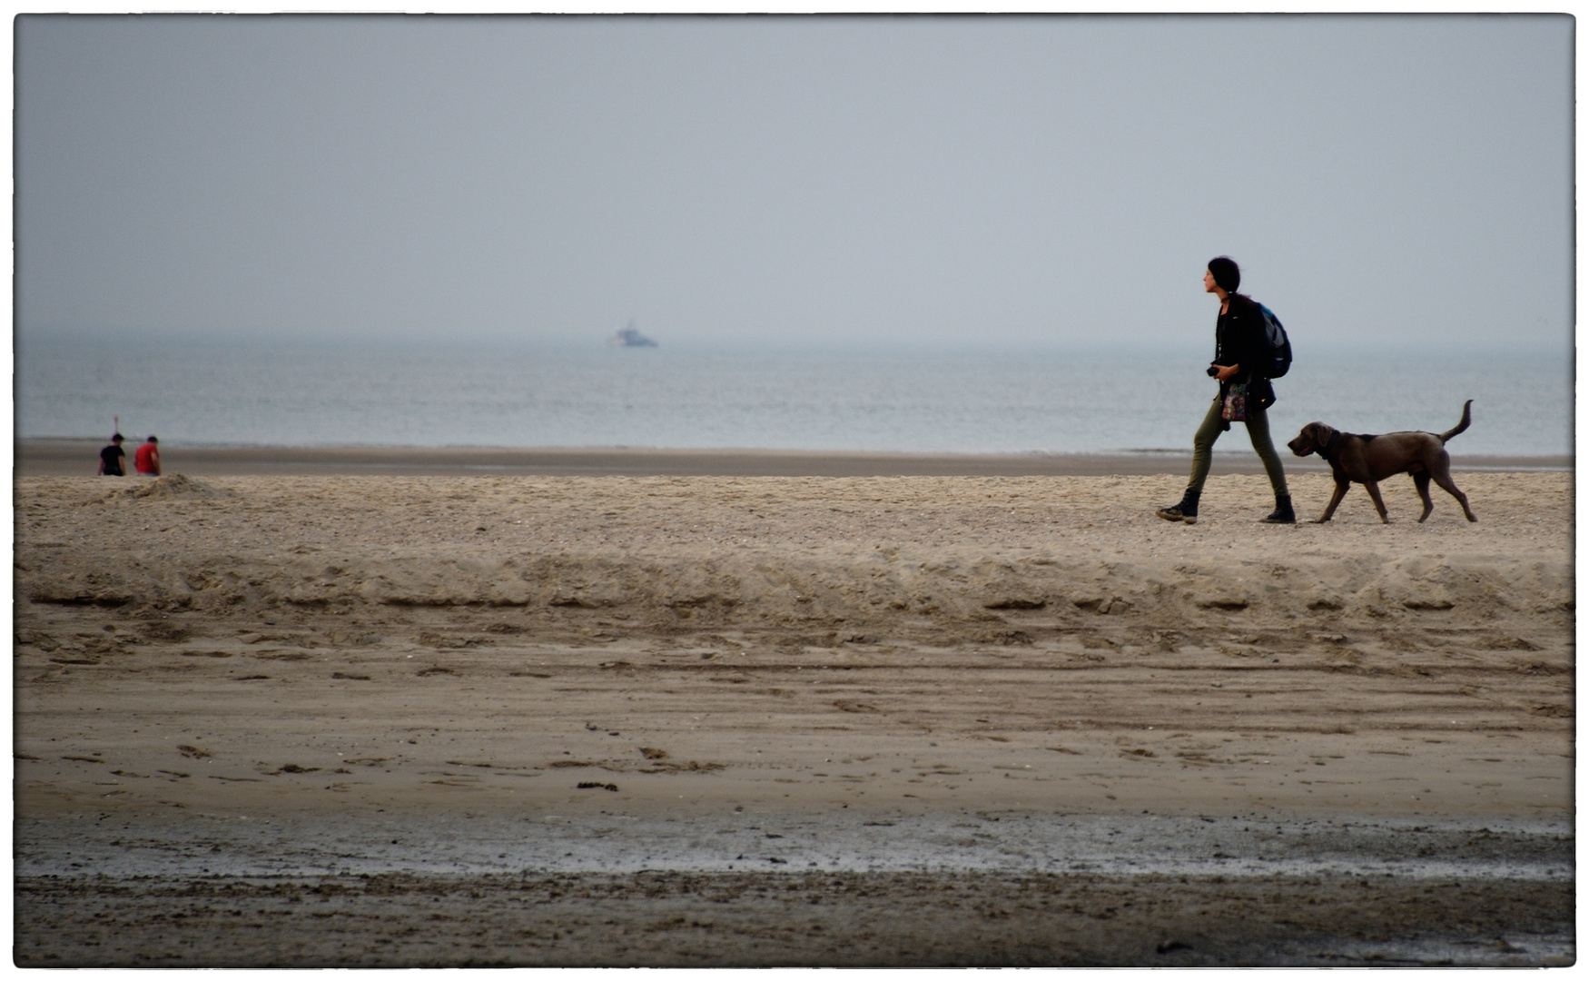
<svg viewBox="0 0 1589 981"><path fill-rule="evenodd" d="M1295 340L1293 340L1295 345ZM1185 452L1214 397L1198 347L663 343L601 339L19 337L17 437L164 445ZM1573 350L1300 347L1276 442L1449 429L1456 456L1573 452ZM1239 429L1239 428L1238 428ZM1217 452L1249 452L1233 431Z"/></svg>

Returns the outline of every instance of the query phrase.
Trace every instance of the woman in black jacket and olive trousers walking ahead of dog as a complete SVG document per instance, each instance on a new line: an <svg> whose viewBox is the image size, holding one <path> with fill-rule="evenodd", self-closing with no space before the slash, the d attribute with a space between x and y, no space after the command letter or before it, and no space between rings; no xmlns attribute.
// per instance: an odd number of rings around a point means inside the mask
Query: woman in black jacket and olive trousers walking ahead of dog
<svg viewBox="0 0 1589 981"><path fill-rule="evenodd" d="M1228 256L1211 259L1203 272L1203 291L1219 296L1219 323L1214 326L1214 363L1208 374L1219 380L1219 396L1209 405L1203 425L1192 437L1192 479L1179 504L1160 507L1166 522L1197 523L1197 502L1203 496L1208 466L1214 459L1214 440L1230 423L1244 421L1252 448L1274 487L1274 514L1263 518L1270 525L1293 525L1297 515L1286 488L1286 471L1270 439L1266 409L1274 404L1274 386L1255 369L1268 355L1263 310L1251 297L1236 293L1241 267Z"/></svg>

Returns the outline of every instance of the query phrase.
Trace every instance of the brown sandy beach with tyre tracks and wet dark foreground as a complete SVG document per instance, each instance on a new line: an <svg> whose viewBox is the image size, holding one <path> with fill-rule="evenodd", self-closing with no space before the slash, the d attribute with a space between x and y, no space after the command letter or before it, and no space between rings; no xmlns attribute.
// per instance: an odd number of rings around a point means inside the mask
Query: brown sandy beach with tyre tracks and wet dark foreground
<svg viewBox="0 0 1589 981"><path fill-rule="evenodd" d="M22 965L1576 956L1565 471L24 456Z"/></svg>

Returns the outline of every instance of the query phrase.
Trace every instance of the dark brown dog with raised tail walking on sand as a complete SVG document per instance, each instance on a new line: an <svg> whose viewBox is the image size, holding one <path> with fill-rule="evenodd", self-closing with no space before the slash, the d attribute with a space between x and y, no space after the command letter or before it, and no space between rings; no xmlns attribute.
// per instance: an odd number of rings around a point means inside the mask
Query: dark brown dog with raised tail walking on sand
<svg viewBox="0 0 1589 981"><path fill-rule="evenodd" d="M1433 432L1386 432L1384 436L1365 436L1360 432L1341 432L1324 423L1308 423L1289 445L1297 456L1317 453L1335 471L1335 494L1330 506L1319 515L1319 522L1328 522L1335 507L1346 496L1346 488L1355 480L1368 488L1368 496L1374 499L1374 510L1379 520L1390 523L1386 514L1386 502L1379 499L1379 482L1394 474L1413 474L1417 496L1424 499L1424 514L1419 522L1435 510L1435 502L1429 499L1429 479L1446 488L1446 491L1462 506L1462 514L1470 522L1473 509L1468 507L1468 496L1457 490L1451 480L1451 455L1446 453L1446 440L1468 428L1471 421L1470 409L1473 399L1462 405L1462 421L1441 434Z"/></svg>

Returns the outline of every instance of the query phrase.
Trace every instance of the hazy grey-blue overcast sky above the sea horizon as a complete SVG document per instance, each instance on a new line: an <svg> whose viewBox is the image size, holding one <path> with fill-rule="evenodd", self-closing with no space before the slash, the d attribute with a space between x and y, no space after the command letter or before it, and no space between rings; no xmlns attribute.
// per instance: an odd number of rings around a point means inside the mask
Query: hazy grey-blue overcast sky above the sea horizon
<svg viewBox="0 0 1589 981"><path fill-rule="evenodd" d="M1572 342L1573 22L16 21L16 329Z"/></svg>

